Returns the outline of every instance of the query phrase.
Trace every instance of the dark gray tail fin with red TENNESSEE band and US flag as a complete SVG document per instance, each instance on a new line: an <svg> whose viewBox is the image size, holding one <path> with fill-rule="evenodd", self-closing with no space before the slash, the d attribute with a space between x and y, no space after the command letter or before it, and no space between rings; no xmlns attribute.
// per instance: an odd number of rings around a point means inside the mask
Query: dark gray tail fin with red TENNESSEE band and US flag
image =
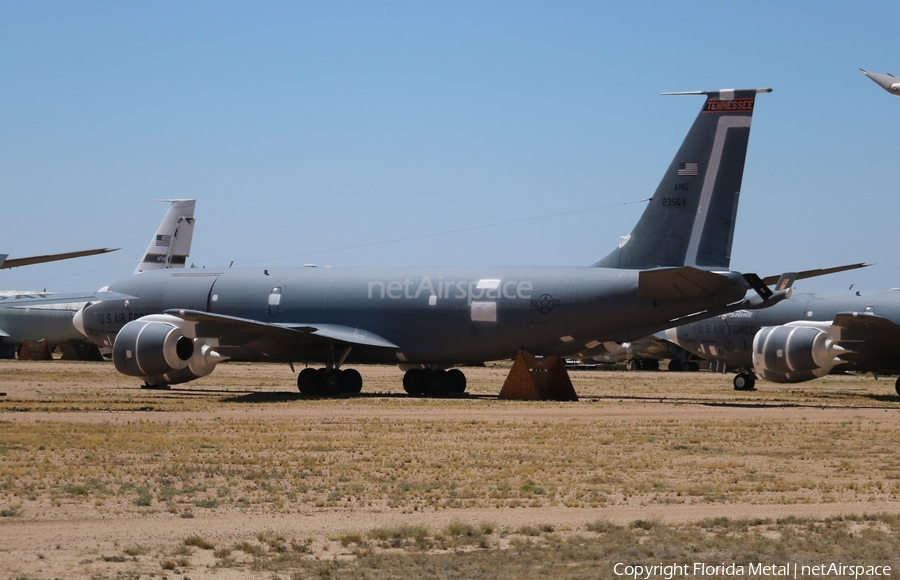
<svg viewBox="0 0 900 580"><path fill-rule="evenodd" d="M594 266L727 270L753 106L771 91L665 93L706 95L706 103L637 225Z"/></svg>

